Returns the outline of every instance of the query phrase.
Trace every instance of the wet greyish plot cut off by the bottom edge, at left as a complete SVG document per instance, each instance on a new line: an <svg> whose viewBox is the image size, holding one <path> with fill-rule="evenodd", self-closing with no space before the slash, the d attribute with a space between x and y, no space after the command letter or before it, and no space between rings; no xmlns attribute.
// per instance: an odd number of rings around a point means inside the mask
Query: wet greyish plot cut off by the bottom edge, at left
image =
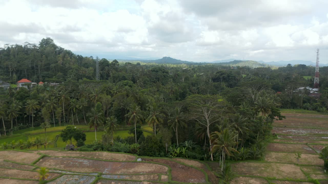
<svg viewBox="0 0 328 184"><path fill-rule="evenodd" d="M95 179L95 176L63 175L48 184L90 184Z"/></svg>

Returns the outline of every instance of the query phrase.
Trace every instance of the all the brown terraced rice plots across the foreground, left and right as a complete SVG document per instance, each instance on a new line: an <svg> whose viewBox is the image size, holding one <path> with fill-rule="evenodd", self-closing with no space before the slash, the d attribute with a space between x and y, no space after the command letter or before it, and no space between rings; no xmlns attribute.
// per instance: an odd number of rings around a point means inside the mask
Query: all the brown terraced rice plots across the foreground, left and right
<svg viewBox="0 0 328 184"><path fill-rule="evenodd" d="M273 138L258 161L229 161L233 184L328 183L318 153L328 145L328 115L283 110L273 123ZM312 127L312 128L311 128ZM296 157L299 154L300 157ZM143 157L113 152L43 150L0 151L0 183L37 184L40 167L49 170L40 183L151 184L217 183L219 162L186 158ZM315 179L315 180L314 180Z"/></svg>

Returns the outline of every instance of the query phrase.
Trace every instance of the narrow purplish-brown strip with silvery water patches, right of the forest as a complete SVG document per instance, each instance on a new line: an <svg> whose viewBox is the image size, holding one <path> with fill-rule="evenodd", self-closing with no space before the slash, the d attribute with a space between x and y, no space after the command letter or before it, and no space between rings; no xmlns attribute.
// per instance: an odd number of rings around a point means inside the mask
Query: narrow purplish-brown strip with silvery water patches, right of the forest
<svg viewBox="0 0 328 184"><path fill-rule="evenodd" d="M306 135L306 134L327 135L328 130L312 129L312 128L273 127L272 133L284 134L284 135Z"/></svg>

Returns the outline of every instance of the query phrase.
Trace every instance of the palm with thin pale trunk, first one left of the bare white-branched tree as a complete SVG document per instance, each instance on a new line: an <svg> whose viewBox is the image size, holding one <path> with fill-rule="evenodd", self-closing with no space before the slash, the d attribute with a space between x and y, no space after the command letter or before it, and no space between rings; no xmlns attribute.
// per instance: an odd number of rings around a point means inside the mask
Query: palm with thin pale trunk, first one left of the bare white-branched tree
<svg viewBox="0 0 328 184"><path fill-rule="evenodd" d="M174 112L172 113L172 117L170 117L170 120L168 123L171 125L171 128L175 131L176 135L176 143L179 147L179 141L178 141L178 127L186 127L186 120L184 117L183 112L181 111L181 107L175 107Z"/></svg>

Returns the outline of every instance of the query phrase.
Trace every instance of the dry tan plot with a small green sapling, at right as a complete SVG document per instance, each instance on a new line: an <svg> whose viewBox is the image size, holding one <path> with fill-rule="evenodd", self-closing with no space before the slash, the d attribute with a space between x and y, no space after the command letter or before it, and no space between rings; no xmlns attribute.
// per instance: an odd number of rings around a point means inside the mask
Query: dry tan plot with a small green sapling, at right
<svg viewBox="0 0 328 184"><path fill-rule="evenodd" d="M297 162L297 155L295 153L279 153L267 152L265 154L265 161L268 162L281 162L281 163L294 163L304 165L323 165L323 160L318 155L302 154L299 162Z"/></svg>

